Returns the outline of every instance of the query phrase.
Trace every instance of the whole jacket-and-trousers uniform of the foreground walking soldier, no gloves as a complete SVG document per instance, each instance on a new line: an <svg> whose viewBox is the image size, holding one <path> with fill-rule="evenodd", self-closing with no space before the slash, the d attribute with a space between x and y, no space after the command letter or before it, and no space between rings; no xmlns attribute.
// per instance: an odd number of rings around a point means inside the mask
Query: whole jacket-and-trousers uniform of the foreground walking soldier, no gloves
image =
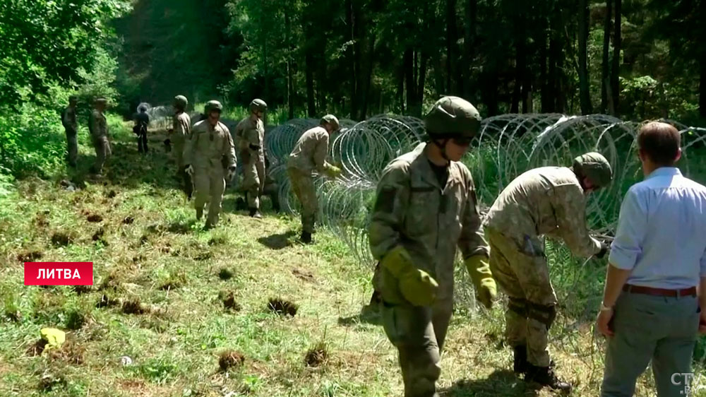
<svg viewBox="0 0 706 397"><path fill-rule="evenodd" d="M453 309L453 270L456 247L464 258L488 255L473 179L460 162L451 162L442 188L424 154L426 143L385 167L378 184L369 227L369 242L378 259L401 245L414 265L439 285L431 307L383 304L383 325L400 352L405 396L433 396L440 374L439 357ZM388 271L373 277L383 301ZM389 301L388 301L389 302ZM433 344L436 342L436 344Z"/></svg>

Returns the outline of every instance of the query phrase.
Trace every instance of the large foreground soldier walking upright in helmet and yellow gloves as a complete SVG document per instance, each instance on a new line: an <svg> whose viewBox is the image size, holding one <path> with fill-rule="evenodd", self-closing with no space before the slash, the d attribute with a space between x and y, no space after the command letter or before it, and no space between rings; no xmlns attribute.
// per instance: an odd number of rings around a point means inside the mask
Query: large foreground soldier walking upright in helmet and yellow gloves
<svg viewBox="0 0 706 397"><path fill-rule="evenodd" d="M480 120L466 100L441 98L424 119L429 143L390 162L378 184L369 228L380 261L373 283L385 333L399 352L405 397L437 396L456 247L478 301L491 307L496 293L473 179L459 162Z"/></svg>

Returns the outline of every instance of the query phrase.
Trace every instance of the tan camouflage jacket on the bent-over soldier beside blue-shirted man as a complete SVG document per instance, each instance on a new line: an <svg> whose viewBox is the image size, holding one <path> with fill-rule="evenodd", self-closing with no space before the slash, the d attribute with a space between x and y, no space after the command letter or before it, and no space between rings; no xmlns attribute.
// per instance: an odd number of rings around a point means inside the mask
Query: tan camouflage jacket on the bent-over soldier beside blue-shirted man
<svg viewBox="0 0 706 397"><path fill-rule="evenodd" d="M588 234L583 188L566 167L536 168L515 178L493 203L485 227L513 239L521 251L542 249L541 235L563 239L576 255L601 250Z"/></svg>

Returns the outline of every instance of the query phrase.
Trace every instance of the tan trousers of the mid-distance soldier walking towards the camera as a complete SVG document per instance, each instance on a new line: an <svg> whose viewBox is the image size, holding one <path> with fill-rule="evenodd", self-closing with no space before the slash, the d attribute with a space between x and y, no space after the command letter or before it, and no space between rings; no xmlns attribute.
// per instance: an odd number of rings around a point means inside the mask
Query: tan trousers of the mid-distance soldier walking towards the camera
<svg viewBox="0 0 706 397"><path fill-rule="evenodd" d="M193 185L196 188L196 218L203 216L205 203L208 206L206 226L215 226L221 211L223 192L225 191L225 176L222 167L195 167L193 170Z"/></svg>

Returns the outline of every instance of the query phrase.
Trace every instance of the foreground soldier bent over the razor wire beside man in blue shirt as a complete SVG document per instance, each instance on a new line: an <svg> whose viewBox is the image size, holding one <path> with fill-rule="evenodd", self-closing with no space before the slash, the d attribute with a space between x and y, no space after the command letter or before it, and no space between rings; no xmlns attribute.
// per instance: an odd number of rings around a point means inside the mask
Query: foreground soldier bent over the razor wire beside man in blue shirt
<svg viewBox="0 0 706 397"><path fill-rule="evenodd" d="M546 348L557 302L540 238L561 238L576 255L604 256L606 244L586 227L586 194L610 182L608 160L587 153L572 168L542 167L520 175L486 217L491 271L509 297L506 338L515 350L515 372L527 381L570 390L556 377Z"/></svg>

